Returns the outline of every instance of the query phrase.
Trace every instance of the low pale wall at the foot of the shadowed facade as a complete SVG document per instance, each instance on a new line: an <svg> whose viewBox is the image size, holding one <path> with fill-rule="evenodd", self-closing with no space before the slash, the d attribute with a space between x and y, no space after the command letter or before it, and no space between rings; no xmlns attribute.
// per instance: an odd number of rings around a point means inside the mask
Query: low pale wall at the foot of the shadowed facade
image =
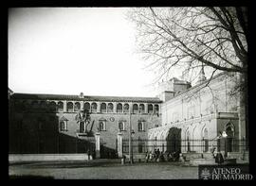
<svg viewBox="0 0 256 186"><path fill-rule="evenodd" d="M88 155L82 154L9 154L9 162L19 161L88 161ZM92 157L90 156L90 160Z"/></svg>

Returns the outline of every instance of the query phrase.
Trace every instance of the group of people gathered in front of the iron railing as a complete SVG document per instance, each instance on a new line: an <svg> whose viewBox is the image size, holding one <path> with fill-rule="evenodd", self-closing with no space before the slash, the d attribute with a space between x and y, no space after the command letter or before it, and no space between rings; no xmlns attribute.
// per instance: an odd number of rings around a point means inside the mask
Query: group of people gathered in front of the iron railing
<svg viewBox="0 0 256 186"><path fill-rule="evenodd" d="M178 161L179 153L178 152L163 152L157 148L150 152L146 152L145 161L146 162L163 162L163 161Z"/></svg>

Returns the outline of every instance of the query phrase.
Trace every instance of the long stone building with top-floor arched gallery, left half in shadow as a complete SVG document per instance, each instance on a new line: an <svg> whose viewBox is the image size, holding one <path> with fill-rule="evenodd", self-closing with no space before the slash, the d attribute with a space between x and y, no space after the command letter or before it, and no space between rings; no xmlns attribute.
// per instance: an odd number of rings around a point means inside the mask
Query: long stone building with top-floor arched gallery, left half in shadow
<svg viewBox="0 0 256 186"><path fill-rule="evenodd" d="M147 138L149 128L160 125L160 103L157 97L13 93L9 99L9 153L86 152L85 128L75 120L79 110L86 109L92 143L99 131L101 157L115 157L118 133L128 138L130 121L135 138L141 139Z"/></svg>

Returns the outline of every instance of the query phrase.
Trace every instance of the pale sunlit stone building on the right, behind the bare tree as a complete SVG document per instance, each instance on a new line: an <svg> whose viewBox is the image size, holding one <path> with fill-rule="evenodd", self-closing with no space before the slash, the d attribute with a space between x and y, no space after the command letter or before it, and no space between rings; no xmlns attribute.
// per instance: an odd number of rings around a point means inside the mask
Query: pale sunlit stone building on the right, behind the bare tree
<svg viewBox="0 0 256 186"><path fill-rule="evenodd" d="M227 151L241 151L239 143L247 132L239 119L239 95L233 93L237 82L238 76L228 73L208 81L203 71L192 87L177 78L163 82L160 86L168 89L160 89L158 95L163 100L162 125L150 129L148 139L155 140L163 151L210 153L210 147L220 145L216 140L225 133Z"/></svg>

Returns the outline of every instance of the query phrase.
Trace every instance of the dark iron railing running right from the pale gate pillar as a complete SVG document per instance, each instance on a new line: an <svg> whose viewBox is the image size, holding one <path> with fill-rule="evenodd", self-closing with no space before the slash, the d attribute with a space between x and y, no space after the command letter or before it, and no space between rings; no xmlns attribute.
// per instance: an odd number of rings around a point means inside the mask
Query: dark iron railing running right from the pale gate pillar
<svg viewBox="0 0 256 186"><path fill-rule="evenodd" d="M158 139L133 139L133 153L145 153L159 149L163 152L239 152L247 151L247 140L223 138L223 139L201 139L201 140L158 140ZM129 139L122 140L122 152L129 153Z"/></svg>

